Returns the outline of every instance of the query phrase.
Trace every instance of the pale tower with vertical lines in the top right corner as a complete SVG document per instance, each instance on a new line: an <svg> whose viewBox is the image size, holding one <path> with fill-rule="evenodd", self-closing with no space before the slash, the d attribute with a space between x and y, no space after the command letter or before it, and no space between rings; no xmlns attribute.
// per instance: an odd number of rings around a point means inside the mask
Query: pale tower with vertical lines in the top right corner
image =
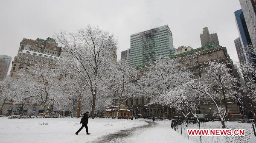
<svg viewBox="0 0 256 143"><path fill-rule="evenodd" d="M241 8L244 14L244 20L246 22L250 39L255 46L256 40L256 2L255 0L239 0Z"/></svg>

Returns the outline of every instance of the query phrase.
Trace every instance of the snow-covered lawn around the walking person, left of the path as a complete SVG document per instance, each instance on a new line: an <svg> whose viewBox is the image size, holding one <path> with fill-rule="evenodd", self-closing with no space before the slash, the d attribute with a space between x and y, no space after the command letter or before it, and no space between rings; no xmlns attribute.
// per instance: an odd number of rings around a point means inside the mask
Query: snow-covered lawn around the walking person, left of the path
<svg viewBox="0 0 256 143"><path fill-rule="evenodd" d="M81 127L80 120L80 118L0 118L0 143L87 143L102 135L147 124L138 120L89 119L88 128L91 135L86 135L85 128L79 132L79 135L75 135ZM42 125L43 123L47 125Z"/></svg>

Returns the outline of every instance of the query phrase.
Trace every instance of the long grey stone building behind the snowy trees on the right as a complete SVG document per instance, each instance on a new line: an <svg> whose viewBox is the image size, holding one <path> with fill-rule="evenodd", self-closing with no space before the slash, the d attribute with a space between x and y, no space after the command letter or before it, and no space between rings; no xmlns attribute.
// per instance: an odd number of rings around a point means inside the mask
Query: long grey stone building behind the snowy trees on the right
<svg viewBox="0 0 256 143"><path fill-rule="evenodd" d="M216 62L231 62L229 55L227 54L227 49L222 46L213 47L202 47L187 51L186 53L181 53L175 55L179 58L179 62L184 67L189 68L196 76L204 76L205 73L198 71L198 68L201 67L205 62L216 61ZM172 56L174 57L174 56ZM230 68L233 68L233 64L229 64ZM141 70L139 75L143 76L145 70ZM209 100L209 99L205 99ZM150 98L132 98L125 102L125 105L128 106L128 109L131 110L131 115L137 116L142 115L144 118L155 116L155 117L169 117L177 118L182 116L180 111L175 108L170 108L162 105L148 105ZM208 104L202 104L198 107L198 114L204 114L205 118L211 119L215 118L211 116L211 113L215 109L215 105L211 102ZM229 99L228 108L232 115L228 115L227 118L241 118L239 107L236 101Z"/></svg>

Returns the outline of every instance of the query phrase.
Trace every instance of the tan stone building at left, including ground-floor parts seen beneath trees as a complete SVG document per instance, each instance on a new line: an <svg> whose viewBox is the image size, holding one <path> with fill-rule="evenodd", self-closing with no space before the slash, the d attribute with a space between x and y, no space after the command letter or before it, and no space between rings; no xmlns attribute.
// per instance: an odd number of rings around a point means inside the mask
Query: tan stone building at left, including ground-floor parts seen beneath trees
<svg viewBox="0 0 256 143"><path fill-rule="evenodd" d="M12 68L10 71L11 77L17 77L17 72L19 70L26 70L32 67L36 62L47 62L55 67L56 59L60 58L61 47L58 47L55 39L47 38L36 40L26 39L20 42L20 47L18 49L17 56L14 57L12 61ZM59 78L63 77L60 75ZM64 75L65 76L65 75ZM3 115L17 115L18 109L20 105L16 107L12 103L6 103L3 107ZM65 109L63 109L66 112ZM24 105L23 107L24 115L38 115L44 110L42 110L40 105ZM54 112L57 113L57 110ZM61 111L59 111L60 113ZM63 113L62 113L63 115ZM65 115L65 113L64 113Z"/></svg>

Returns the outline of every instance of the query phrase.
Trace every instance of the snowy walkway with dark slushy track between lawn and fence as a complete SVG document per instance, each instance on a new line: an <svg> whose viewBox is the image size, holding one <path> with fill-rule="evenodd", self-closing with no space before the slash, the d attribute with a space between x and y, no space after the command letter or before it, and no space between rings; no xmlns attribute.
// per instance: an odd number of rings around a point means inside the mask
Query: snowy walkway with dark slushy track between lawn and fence
<svg viewBox="0 0 256 143"><path fill-rule="evenodd" d="M148 124L111 133L91 143L194 143L175 132L169 121L145 121Z"/></svg>

